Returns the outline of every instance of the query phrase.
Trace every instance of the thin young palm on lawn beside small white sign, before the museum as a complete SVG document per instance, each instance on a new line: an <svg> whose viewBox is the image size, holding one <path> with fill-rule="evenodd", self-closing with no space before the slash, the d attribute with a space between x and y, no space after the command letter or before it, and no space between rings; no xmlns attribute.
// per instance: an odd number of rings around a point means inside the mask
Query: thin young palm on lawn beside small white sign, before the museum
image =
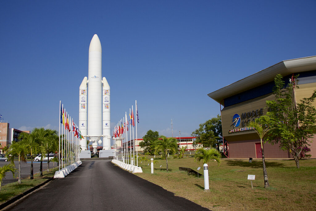
<svg viewBox="0 0 316 211"><path fill-rule="evenodd" d="M262 165L263 165L263 178L264 178L264 188L269 187L269 180L268 180L268 174L267 174L267 168L265 167L265 161L264 161L264 151L263 151L263 144L262 139L264 135L271 130L271 126L269 127L263 127L262 124L260 124L258 119L255 119L255 121L250 121L247 124L248 127L253 127L256 131L256 133L259 135L260 143L261 143L261 152L262 152Z"/></svg>

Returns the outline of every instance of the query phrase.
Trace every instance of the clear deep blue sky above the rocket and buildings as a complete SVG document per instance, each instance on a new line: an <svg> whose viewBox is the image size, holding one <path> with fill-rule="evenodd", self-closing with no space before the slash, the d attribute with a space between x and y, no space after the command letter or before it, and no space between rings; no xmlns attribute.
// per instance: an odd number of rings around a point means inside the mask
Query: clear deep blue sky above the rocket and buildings
<svg viewBox="0 0 316 211"><path fill-rule="evenodd" d="M283 60L316 55L316 1L1 1L0 113L10 127L78 122L93 35L112 127L138 102L138 136L190 136L220 113L208 93Z"/></svg>

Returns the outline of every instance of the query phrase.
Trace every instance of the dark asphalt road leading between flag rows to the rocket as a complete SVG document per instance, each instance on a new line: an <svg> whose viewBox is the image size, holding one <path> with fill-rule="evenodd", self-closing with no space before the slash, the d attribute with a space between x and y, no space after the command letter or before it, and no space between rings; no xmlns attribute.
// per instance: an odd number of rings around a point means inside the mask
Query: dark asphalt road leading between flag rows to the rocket
<svg viewBox="0 0 316 211"><path fill-rule="evenodd" d="M6 210L208 210L115 166L82 161Z"/></svg>

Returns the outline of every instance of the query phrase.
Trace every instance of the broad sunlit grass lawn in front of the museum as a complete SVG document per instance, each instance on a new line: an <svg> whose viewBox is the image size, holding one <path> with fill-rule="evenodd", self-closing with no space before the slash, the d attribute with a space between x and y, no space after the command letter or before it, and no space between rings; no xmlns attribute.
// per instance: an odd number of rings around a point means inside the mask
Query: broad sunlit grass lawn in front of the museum
<svg viewBox="0 0 316 211"><path fill-rule="evenodd" d="M210 161L210 192L203 191L203 177L198 179L179 171L179 167L197 171L200 166L199 172L203 174L202 162L197 163L192 157L169 157L169 172L166 172L166 160L158 160L154 174L150 173L150 165L147 166L149 162L139 165L143 173L137 176L211 210L316 210L315 159L300 160L300 169L294 160L266 160L269 189L264 189L262 160L248 163L248 160L222 159L220 166ZM253 189L248 174L256 175Z"/></svg>

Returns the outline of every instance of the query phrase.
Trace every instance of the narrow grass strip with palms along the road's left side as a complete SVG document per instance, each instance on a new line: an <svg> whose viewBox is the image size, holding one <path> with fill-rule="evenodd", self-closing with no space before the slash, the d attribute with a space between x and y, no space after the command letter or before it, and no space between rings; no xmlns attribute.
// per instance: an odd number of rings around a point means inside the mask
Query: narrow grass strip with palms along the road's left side
<svg viewBox="0 0 316 211"><path fill-rule="evenodd" d="M54 177L55 171L58 168L50 169L50 172L43 171L43 176L40 176L39 173L34 174L34 179L26 178L22 179L21 184L18 182L9 183L2 186L2 190L0 191L0 204L8 201L10 198L17 196L36 185L39 185L45 182L47 179ZM8 172L11 173L11 172Z"/></svg>

